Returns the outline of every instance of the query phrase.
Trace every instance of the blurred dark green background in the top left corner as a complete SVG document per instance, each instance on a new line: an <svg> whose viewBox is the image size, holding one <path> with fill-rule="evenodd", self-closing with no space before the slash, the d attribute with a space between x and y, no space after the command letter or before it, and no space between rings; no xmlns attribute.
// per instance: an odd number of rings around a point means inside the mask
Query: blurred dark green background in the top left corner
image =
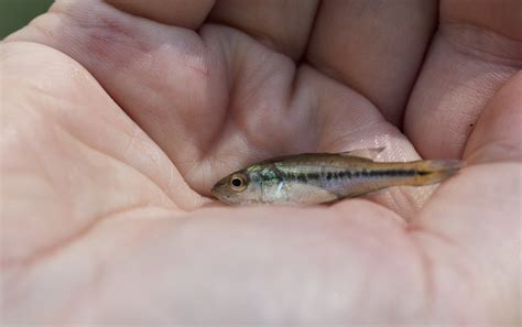
<svg viewBox="0 0 522 327"><path fill-rule="evenodd" d="M0 40L45 12L53 0L0 0Z"/></svg>

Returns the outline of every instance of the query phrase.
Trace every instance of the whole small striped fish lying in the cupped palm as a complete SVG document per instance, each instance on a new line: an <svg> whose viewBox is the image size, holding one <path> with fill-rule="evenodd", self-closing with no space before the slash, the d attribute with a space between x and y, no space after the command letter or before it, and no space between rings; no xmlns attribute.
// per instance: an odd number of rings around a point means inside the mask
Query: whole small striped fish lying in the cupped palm
<svg viewBox="0 0 522 327"><path fill-rule="evenodd" d="M460 168L458 160L374 162L383 149L304 153L268 160L221 178L211 193L228 205L313 205L390 186L434 184Z"/></svg>

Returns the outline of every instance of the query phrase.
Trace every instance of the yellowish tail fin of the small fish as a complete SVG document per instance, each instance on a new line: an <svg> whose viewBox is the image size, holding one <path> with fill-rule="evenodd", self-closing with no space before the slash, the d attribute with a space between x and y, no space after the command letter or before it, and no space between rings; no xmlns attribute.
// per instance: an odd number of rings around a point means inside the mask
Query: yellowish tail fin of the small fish
<svg viewBox="0 0 522 327"><path fill-rule="evenodd" d="M459 160L422 160L412 164L416 171L413 179L415 186L439 183L463 167L463 162Z"/></svg>

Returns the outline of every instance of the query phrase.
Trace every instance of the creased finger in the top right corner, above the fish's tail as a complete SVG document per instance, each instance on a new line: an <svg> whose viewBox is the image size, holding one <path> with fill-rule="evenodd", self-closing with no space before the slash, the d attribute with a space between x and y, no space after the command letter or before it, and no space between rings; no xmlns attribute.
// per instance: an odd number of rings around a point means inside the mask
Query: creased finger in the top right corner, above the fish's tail
<svg viewBox="0 0 522 327"><path fill-rule="evenodd" d="M459 157L491 96L522 67L522 2L443 1L405 116L421 155Z"/></svg>

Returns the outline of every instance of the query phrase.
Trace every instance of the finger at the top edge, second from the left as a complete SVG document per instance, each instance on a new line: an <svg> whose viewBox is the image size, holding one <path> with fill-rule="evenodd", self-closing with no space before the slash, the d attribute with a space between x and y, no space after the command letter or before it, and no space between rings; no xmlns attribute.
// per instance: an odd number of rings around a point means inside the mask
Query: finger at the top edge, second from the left
<svg viewBox="0 0 522 327"><path fill-rule="evenodd" d="M317 0L218 1L209 20L241 30L298 59L314 22Z"/></svg>

